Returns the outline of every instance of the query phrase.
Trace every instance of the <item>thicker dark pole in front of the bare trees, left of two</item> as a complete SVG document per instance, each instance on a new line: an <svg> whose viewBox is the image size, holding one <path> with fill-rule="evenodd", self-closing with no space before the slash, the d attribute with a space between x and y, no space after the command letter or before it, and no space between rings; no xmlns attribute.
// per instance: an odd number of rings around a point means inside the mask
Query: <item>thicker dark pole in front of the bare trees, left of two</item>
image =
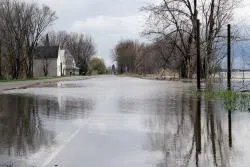
<svg viewBox="0 0 250 167"><path fill-rule="evenodd" d="M196 23L196 48L197 48L197 89L201 89L201 49L200 49L200 20Z"/></svg>

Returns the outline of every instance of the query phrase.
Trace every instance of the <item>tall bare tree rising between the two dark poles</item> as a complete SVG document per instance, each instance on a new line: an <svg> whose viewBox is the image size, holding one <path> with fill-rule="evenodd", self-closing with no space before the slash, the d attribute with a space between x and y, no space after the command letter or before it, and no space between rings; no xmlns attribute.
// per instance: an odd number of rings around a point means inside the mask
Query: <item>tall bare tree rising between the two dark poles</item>
<svg viewBox="0 0 250 167"><path fill-rule="evenodd" d="M202 0L200 2L200 16L202 18L203 36L203 73L207 78L215 72L218 64L225 57L221 54L219 37L224 33L226 25L232 20L234 9L240 0Z"/></svg>

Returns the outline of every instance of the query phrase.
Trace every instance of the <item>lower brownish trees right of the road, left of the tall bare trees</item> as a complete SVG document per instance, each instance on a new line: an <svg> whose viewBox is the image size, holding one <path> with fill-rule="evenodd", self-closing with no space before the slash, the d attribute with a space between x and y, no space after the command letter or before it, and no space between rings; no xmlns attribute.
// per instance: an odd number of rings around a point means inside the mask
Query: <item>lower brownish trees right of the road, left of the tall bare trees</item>
<svg viewBox="0 0 250 167"><path fill-rule="evenodd" d="M177 60L168 57L166 42L144 44L133 40L120 41L114 49L118 73L154 74L161 69L177 70Z"/></svg>

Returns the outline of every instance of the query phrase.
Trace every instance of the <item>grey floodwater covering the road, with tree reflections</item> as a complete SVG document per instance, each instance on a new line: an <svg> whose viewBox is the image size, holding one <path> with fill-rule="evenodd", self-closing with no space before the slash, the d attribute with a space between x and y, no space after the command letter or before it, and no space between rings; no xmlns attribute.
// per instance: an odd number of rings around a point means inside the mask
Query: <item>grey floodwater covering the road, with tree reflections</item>
<svg viewBox="0 0 250 167"><path fill-rule="evenodd" d="M248 167L250 114L190 83L98 77L0 95L0 167Z"/></svg>

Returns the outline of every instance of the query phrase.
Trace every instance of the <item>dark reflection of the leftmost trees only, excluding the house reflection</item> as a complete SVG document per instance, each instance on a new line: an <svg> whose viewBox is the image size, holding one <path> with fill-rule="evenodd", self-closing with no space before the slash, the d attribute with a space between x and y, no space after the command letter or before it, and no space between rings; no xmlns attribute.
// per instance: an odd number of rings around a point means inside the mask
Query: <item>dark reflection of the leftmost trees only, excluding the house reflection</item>
<svg viewBox="0 0 250 167"><path fill-rule="evenodd" d="M0 101L0 154L26 156L52 144L32 97L1 95Z"/></svg>

